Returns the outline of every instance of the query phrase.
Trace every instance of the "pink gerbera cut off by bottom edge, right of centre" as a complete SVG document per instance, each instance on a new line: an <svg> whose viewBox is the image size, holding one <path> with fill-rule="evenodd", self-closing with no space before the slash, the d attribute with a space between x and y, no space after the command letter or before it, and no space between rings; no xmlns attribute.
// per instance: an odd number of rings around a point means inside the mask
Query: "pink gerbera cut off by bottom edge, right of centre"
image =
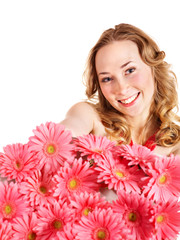
<svg viewBox="0 0 180 240"><path fill-rule="evenodd" d="M74 231L76 240L119 240L125 228L119 215L111 208L96 208L88 217L82 216Z"/></svg>

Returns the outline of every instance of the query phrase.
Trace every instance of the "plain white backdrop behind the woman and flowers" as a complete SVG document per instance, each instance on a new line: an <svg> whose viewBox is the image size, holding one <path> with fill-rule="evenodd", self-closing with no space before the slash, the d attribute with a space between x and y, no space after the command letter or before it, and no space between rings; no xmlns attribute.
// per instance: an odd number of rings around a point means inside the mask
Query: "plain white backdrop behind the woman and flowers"
<svg viewBox="0 0 180 240"><path fill-rule="evenodd" d="M180 79L178 0L0 0L0 151L85 98L89 50L121 22L157 41Z"/></svg>

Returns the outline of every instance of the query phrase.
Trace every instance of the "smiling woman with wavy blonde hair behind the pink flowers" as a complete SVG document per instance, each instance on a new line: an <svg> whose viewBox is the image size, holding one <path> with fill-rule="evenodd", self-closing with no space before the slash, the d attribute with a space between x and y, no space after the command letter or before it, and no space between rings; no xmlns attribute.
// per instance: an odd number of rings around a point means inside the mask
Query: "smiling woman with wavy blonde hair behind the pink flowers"
<svg viewBox="0 0 180 240"><path fill-rule="evenodd" d="M176 76L165 53L142 30L119 24L92 48L85 70L88 100L75 104L61 124L74 137L93 133L154 152L180 154Z"/></svg>

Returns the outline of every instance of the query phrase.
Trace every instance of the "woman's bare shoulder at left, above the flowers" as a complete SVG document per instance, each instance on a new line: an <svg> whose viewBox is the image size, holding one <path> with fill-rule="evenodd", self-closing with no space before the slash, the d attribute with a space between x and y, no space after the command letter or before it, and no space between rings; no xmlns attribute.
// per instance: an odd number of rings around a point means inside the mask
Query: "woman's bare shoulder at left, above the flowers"
<svg viewBox="0 0 180 240"><path fill-rule="evenodd" d="M94 133L102 128L100 118L93 104L78 102L67 112L66 118L61 122L71 130L74 137Z"/></svg>

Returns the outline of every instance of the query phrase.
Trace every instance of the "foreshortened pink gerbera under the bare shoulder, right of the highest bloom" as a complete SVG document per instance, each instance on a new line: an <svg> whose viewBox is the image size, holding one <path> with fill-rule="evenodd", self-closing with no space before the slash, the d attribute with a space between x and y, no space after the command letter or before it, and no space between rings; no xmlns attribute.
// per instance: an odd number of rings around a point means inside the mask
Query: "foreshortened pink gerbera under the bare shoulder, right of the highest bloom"
<svg viewBox="0 0 180 240"><path fill-rule="evenodd" d="M87 160L101 159L107 152L111 151L115 146L112 142L103 136L95 136L88 134L77 137L73 140L75 150L81 153L81 156L87 156Z"/></svg>

